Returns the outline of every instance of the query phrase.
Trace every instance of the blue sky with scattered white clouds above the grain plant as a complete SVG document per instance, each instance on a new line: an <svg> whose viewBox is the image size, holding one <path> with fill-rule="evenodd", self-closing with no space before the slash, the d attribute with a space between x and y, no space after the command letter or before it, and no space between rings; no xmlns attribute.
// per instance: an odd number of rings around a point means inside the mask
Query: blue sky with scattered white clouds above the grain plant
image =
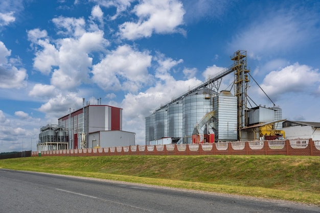
<svg viewBox="0 0 320 213"><path fill-rule="evenodd" d="M40 127L82 98L123 108L144 144L145 117L237 50L284 119L320 122L319 35L316 0L2 0L0 152L36 150ZM253 80L248 94L273 106Z"/></svg>

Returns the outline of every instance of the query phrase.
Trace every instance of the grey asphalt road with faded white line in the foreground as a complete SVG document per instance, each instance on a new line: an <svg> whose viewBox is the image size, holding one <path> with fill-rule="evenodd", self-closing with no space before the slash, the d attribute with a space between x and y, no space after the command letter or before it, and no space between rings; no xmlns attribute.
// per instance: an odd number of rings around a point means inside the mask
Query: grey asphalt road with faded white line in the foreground
<svg viewBox="0 0 320 213"><path fill-rule="evenodd" d="M320 212L320 208L0 169L0 212Z"/></svg>

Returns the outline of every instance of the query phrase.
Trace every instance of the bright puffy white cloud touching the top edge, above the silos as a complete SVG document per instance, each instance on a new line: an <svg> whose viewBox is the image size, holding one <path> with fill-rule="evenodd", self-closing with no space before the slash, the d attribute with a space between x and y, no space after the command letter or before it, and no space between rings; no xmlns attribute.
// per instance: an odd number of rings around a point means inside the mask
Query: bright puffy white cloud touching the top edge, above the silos
<svg viewBox="0 0 320 213"><path fill-rule="evenodd" d="M182 32L178 26L183 23L185 10L176 0L144 0L133 9L139 20L124 22L120 28L123 38L135 40L150 37L152 33L167 34Z"/></svg>

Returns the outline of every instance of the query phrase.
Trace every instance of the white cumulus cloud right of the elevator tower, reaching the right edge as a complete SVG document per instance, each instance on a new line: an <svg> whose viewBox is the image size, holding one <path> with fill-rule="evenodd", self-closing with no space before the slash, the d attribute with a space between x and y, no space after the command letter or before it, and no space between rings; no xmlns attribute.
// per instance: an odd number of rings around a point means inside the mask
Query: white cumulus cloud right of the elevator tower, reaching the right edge
<svg viewBox="0 0 320 213"><path fill-rule="evenodd" d="M261 87L271 99L278 100L284 93L313 91L313 86L318 86L319 82L318 69L294 63L279 71L270 72Z"/></svg>

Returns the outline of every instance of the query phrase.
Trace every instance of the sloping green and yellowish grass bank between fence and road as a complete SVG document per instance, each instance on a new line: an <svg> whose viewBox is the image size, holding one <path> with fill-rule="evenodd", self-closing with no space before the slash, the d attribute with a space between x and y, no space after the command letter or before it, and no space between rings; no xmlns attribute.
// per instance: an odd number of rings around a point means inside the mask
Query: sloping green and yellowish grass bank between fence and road
<svg viewBox="0 0 320 213"><path fill-rule="evenodd" d="M282 199L320 206L320 157L99 156L0 160L0 168Z"/></svg>

